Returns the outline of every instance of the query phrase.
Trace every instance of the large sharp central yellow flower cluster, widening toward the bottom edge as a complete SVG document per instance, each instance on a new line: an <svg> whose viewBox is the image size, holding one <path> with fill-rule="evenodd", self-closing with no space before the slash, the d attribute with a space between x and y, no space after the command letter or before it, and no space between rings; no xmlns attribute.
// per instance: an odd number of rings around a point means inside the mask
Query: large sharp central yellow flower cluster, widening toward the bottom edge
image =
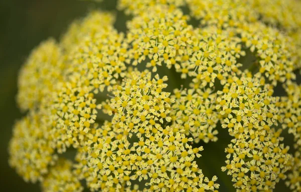
<svg viewBox="0 0 301 192"><path fill-rule="evenodd" d="M143 179L147 181L145 185L155 191L218 188L219 184L214 183L216 177L211 181L206 177L203 181L202 170L194 160L200 157L203 147L192 148L188 142L193 138L167 125L172 120L170 104L174 102L169 97L171 93L163 91L167 80L167 76L160 78L158 74L152 78L147 70L133 70L120 85L113 87L114 96L106 102L104 112L114 116L112 122L105 122L102 128L108 137L98 136L104 132L91 136L84 156L90 159L89 168L96 165L102 168L92 169L92 175L98 176L94 177L96 183L93 187L91 184L91 188L104 189L99 182L103 182L105 171L105 187L130 187L131 180ZM108 139L109 144L105 144ZM87 166L83 167L88 171Z"/></svg>

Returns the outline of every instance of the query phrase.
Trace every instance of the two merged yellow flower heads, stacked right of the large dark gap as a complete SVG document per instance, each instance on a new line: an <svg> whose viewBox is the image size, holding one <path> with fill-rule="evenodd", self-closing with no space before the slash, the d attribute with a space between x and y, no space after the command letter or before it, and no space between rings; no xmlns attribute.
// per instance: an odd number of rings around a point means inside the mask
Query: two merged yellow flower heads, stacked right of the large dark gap
<svg viewBox="0 0 301 192"><path fill-rule="evenodd" d="M256 76L241 76L218 91L217 108L226 115L222 127L234 136L222 170L228 169L234 186L246 191L274 188L289 169L288 147L280 143L281 129L275 131L279 109L272 93L272 86Z"/></svg>

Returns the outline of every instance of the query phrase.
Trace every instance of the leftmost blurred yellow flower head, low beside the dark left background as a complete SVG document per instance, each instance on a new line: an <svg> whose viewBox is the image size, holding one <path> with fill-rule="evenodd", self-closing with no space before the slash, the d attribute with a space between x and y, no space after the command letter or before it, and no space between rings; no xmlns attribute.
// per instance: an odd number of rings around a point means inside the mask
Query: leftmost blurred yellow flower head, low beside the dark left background
<svg viewBox="0 0 301 192"><path fill-rule="evenodd" d="M30 112L16 122L9 144L9 163L26 181L42 180L57 155L51 147L47 130L42 128L39 114Z"/></svg>

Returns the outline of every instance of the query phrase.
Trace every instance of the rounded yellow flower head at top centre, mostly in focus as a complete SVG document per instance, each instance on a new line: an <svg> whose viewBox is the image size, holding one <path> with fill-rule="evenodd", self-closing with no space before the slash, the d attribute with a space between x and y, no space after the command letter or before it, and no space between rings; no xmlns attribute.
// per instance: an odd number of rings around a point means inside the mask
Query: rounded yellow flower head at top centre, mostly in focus
<svg viewBox="0 0 301 192"><path fill-rule="evenodd" d="M149 58L151 60L146 66L153 67L153 72L162 63L171 68L176 63L178 54L184 54L180 47L191 43L189 37L192 26L187 24L187 17L183 12L173 7L157 5L149 8L130 20L127 26L127 40L132 46L129 51L134 59L132 64L136 65Z"/></svg>

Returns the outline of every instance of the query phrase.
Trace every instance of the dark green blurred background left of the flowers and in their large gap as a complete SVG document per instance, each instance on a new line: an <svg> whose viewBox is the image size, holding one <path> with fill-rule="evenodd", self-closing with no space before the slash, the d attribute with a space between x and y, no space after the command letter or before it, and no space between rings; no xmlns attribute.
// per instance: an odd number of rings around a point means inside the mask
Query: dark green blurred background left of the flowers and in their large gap
<svg viewBox="0 0 301 192"><path fill-rule="evenodd" d="M12 126L22 114L16 106L17 77L30 51L48 37L60 39L68 25L96 8L112 10L116 0L95 3L83 0L0 0L0 182L1 191L40 191L39 184L23 181L8 165L8 142ZM125 30L125 17L117 12L115 27ZM227 130L219 130L219 141L205 145L198 164L208 177L218 175L220 191L234 191L231 177L220 171L224 148L230 142ZM280 186L281 185L281 186ZM283 182L277 191L288 191Z"/></svg>

